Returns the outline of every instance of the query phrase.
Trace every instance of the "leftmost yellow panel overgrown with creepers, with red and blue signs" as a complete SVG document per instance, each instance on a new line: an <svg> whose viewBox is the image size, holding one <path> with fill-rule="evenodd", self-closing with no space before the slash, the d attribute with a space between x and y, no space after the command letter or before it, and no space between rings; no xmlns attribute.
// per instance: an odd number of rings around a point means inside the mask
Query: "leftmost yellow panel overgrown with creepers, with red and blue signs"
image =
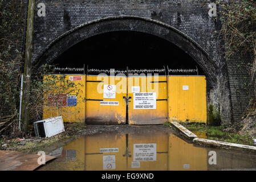
<svg viewBox="0 0 256 182"><path fill-rule="evenodd" d="M60 77L64 77L63 79ZM52 80L56 81L52 81ZM62 81L64 80L64 82ZM46 103L43 107L43 119L62 115L63 122L85 121L85 75L54 75L44 76L44 83L52 88L44 93ZM70 86L68 88L68 85ZM73 85L73 86L72 86Z"/></svg>

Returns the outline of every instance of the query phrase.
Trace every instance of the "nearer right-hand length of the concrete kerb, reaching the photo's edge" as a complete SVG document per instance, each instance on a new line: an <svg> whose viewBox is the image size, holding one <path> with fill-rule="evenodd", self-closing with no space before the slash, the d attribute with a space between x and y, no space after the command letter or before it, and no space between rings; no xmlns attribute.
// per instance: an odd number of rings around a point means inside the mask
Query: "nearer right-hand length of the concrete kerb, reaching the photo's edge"
<svg viewBox="0 0 256 182"><path fill-rule="evenodd" d="M208 146L208 147L214 147L214 148L225 148L229 150L250 151L250 152L256 153L256 147L247 146L245 144L220 142L216 140L209 140L209 139L203 139L203 138L194 138L193 144L199 144L201 146Z"/></svg>

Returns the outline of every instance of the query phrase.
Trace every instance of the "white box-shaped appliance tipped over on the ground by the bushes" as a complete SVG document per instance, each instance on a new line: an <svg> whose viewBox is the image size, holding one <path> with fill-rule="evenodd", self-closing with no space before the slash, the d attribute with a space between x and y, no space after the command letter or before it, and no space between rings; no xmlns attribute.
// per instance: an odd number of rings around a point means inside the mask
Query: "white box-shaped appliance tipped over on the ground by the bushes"
<svg viewBox="0 0 256 182"><path fill-rule="evenodd" d="M65 131L62 116L34 122L36 137L52 137Z"/></svg>

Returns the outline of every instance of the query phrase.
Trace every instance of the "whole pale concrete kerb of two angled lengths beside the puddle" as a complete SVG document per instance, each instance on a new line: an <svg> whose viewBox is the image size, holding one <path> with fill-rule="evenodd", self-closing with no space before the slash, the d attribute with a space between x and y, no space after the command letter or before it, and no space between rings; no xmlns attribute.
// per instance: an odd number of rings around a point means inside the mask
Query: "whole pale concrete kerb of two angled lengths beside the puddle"
<svg viewBox="0 0 256 182"><path fill-rule="evenodd" d="M184 126L180 125L178 122L170 122L170 123L186 138L193 140L193 144L197 144L205 147L223 148L227 150L239 150L239 151L248 151L248 152L256 153L256 147L254 146L247 146L245 144L221 142L217 140L198 138L197 135L193 134Z"/></svg>

